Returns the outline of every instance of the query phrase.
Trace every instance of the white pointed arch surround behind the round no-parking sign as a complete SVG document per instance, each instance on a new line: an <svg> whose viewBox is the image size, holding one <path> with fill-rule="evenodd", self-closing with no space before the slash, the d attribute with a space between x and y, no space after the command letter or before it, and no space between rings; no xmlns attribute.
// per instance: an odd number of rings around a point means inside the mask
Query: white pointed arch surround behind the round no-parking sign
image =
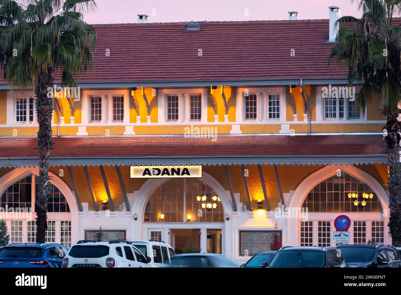
<svg viewBox="0 0 401 295"><path fill-rule="evenodd" d="M300 185L296 188L296 190L290 195L290 199L288 202L289 208L301 208L302 203L306 195L320 182L332 177L338 173L338 169L344 171L345 173L363 181L375 192L376 196L379 198L381 206L383 208L383 212L389 213L389 197L383 188L383 186L377 181L372 175L369 173L355 167L352 165L328 165L319 169L318 171L310 174L306 177ZM387 214L388 215L388 214ZM387 226L389 220L388 216L384 216L384 242L391 244L391 238L388 236L389 228ZM291 244L296 245L299 240L299 220L291 219L290 227L288 231L288 241L291 241Z"/></svg>

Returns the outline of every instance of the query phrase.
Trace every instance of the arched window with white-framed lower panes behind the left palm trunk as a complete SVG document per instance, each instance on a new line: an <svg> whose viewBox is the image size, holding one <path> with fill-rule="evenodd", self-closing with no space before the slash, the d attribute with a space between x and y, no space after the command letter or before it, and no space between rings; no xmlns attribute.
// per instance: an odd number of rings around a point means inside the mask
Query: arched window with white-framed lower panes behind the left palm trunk
<svg viewBox="0 0 401 295"><path fill-rule="evenodd" d="M57 242L70 247L71 214L68 202L55 185L48 183L47 187L48 228L45 242ZM1 194L0 210L7 224L11 243L36 242L37 195L38 176L33 174L16 181Z"/></svg>

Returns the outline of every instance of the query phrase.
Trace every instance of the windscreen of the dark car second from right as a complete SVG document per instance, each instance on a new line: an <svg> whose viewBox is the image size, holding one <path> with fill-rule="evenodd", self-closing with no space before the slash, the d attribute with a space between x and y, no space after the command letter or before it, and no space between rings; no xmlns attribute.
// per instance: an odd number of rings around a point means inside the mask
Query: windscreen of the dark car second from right
<svg viewBox="0 0 401 295"><path fill-rule="evenodd" d="M324 267L324 252L314 250L278 251L269 267Z"/></svg>

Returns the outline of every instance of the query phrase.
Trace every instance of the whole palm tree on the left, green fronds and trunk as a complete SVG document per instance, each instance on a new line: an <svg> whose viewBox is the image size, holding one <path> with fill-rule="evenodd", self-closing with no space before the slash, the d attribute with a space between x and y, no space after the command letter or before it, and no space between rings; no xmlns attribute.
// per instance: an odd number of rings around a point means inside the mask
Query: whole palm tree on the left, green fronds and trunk
<svg viewBox="0 0 401 295"><path fill-rule="evenodd" d="M53 87L53 73L60 77L61 87L77 87L74 77L82 69L94 69L95 30L83 21L82 12L95 8L94 0L0 0L0 60L4 78L12 90L31 90L36 96L39 126L36 242L45 242L47 230L54 107L59 115L58 104L48 95L51 93L48 88Z"/></svg>

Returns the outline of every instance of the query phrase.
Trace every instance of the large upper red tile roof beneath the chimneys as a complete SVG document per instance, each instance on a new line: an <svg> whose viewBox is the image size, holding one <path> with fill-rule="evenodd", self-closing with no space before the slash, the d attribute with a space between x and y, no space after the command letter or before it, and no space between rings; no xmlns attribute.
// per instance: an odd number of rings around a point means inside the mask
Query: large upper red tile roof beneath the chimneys
<svg viewBox="0 0 401 295"><path fill-rule="evenodd" d="M95 73L81 81L344 77L326 42L328 20L97 24ZM110 56L105 56L106 49ZM202 49L202 56L198 50ZM290 55L295 50L295 56Z"/></svg>

